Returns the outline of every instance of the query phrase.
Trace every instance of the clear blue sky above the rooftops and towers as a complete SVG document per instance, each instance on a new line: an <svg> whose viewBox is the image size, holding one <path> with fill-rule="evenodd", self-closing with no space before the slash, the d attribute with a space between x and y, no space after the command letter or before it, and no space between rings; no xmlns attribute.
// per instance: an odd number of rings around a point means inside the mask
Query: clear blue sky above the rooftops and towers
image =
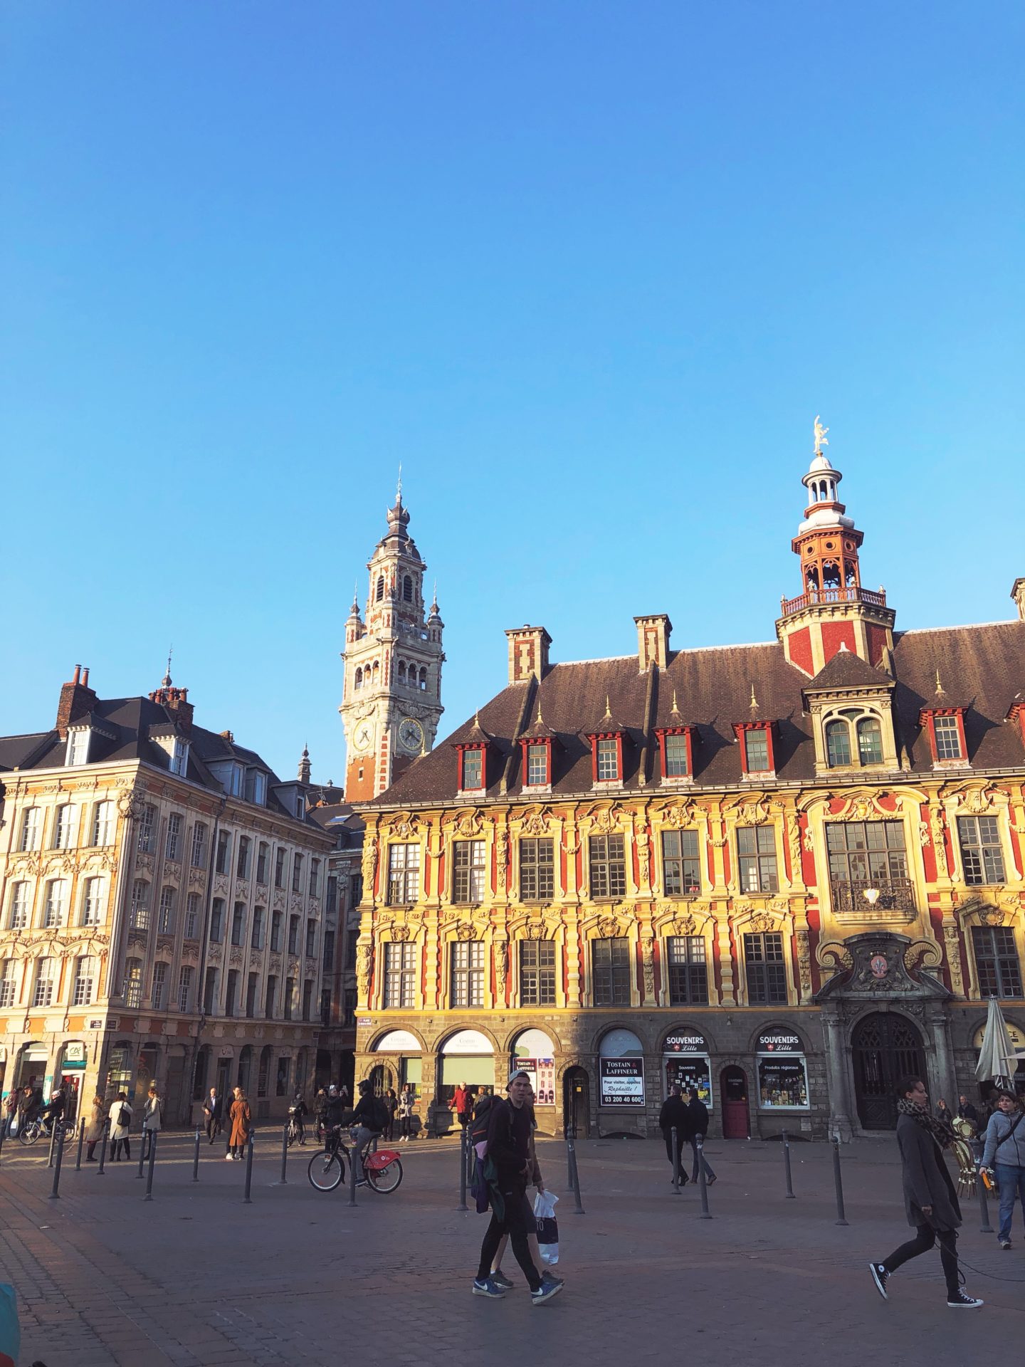
<svg viewBox="0 0 1025 1367"><path fill-rule="evenodd" d="M1025 10L8 0L0 731L172 674L343 776L405 472L441 734L555 660L774 637L812 420L898 629L1025 574Z"/></svg>

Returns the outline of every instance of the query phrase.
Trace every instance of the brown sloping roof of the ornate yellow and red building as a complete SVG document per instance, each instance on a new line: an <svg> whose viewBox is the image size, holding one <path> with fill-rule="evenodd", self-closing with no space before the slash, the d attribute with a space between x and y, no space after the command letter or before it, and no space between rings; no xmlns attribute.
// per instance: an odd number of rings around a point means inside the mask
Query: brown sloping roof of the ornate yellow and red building
<svg viewBox="0 0 1025 1367"><path fill-rule="evenodd" d="M1025 771L1021 734L1015 726L1004 723L1014 696L1025 688L1025 622L895 634L892 708L897 748L902 766L910 772L932 772L932 753L928 737L918 726L918 714L935 697L938 668L944 688L969 700L965 737L972 767ZM854 655L827 671L830 666L820 671L816 685L831 679L832 686L840 686L842 679L854 679L856 674L858 686L868 679L884 685L891 682L890 675L872 670ZM804 704L808 679L787 663L783 647L772 641L676 651L664 670L651 673L638 673L636 655L555 664L540 684L530 679L508 685L478 714L480 725L506 760L489 770L492 782L487 797L515 798L521 793L517 737L529 734L538 703L547 727L562 742L562 753L554 764L552 796L590 794L592 757L585 731L594 718L604 714L607 699L612 715L637 742L627 746L623 755L623 789L659 791L661 776L655 731L679 725L672 715L674 693L678 716L694 726L692 790L735 787L741 783L741 761L733 727L752 715L752 688L757 694L758 719L776 723L774 755L778 781L820 782L815 771L812 720ZM525 697L528 689L529 699ZM459 744L472 727L473 719L465 722L448 738L448 745L439 745L430 755L421 756L387 791L366 805L455 802L458 772L450 745ZM641 767L644 785L638 782Z"/></svg>

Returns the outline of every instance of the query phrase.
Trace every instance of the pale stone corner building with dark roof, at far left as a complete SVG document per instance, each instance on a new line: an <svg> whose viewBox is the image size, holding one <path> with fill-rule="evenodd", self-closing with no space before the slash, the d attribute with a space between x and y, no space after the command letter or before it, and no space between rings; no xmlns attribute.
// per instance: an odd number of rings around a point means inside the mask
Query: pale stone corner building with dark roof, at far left
<svg viewBox="0 0 1025 1367"><path fill-rule="evenodd" d="M282 1115L313 1077L331 838L306 785L194 725L169 675L0 738L3 1088L156 1079L169 1121L209 1085Z"/></svg>

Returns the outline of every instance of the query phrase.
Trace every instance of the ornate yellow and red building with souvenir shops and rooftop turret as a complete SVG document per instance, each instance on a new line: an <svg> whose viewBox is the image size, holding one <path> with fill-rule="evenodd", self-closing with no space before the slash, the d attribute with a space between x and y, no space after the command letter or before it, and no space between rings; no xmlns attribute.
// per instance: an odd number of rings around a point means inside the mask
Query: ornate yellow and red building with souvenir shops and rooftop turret
<svg viewBox="0 0 1025 1367"><path fill-rule="evenodd" d="M776 640L554 664L362 804L357 1074L534 1074L538 1121L652 1135L894 1124L892 1084L977 1095L985 1001L1025 1036L1025 581L1017 619L895 630L817 443Z"/></svg>

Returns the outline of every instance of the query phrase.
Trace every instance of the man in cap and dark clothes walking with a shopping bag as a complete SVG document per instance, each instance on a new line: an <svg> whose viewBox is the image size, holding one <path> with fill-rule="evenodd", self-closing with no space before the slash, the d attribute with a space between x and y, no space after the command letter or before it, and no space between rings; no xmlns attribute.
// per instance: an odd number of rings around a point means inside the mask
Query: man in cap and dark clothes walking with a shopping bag
<svg viewBox="0 0 1025 1367"><path fill-rule="evenodd" d="M491 1223L481 1244L481 1260L473 1282L474 1296L497 1300L506 1295L491 1275L491 1264L502 1236L508 1234L512 1254L530 1286L530 1300L544 1305L563 1289L562 1282L538 1274L526 1239L534 1228L534 1217L526 1199L530 1177L530 1077L522 1069L508 1074L508 1100L496 1099L488 1118L487 1163L492 1169L488 1181Z"/></svg>

